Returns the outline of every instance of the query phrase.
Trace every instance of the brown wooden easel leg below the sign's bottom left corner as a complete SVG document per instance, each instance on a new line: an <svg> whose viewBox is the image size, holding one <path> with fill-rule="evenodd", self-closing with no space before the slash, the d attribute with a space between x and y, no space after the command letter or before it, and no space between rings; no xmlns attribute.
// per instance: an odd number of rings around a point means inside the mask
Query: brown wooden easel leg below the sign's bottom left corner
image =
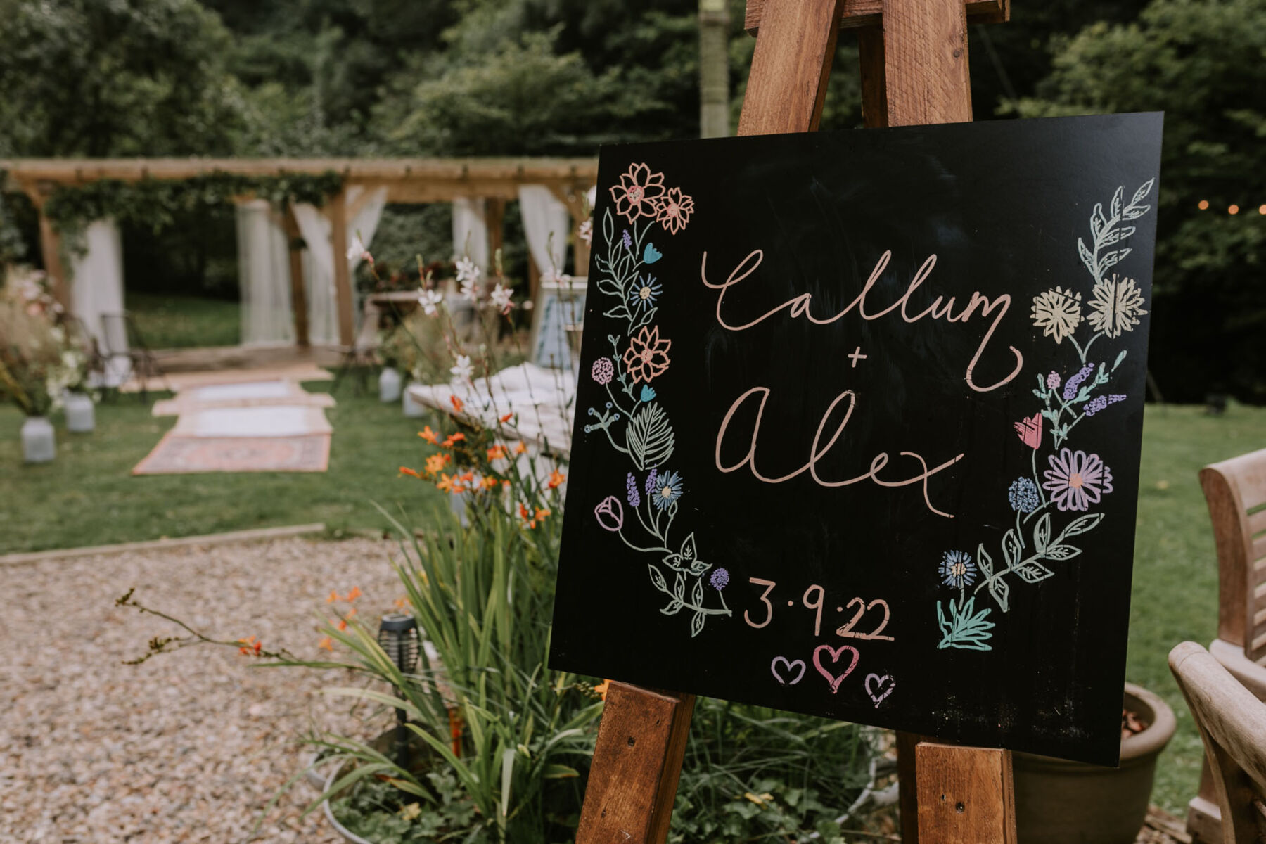
<svg viewBox="0 0 1266 844"><path fill-rule="evenodd" d="M576 844L663 844L694 711L694 695L608 687Z"/></svg>

